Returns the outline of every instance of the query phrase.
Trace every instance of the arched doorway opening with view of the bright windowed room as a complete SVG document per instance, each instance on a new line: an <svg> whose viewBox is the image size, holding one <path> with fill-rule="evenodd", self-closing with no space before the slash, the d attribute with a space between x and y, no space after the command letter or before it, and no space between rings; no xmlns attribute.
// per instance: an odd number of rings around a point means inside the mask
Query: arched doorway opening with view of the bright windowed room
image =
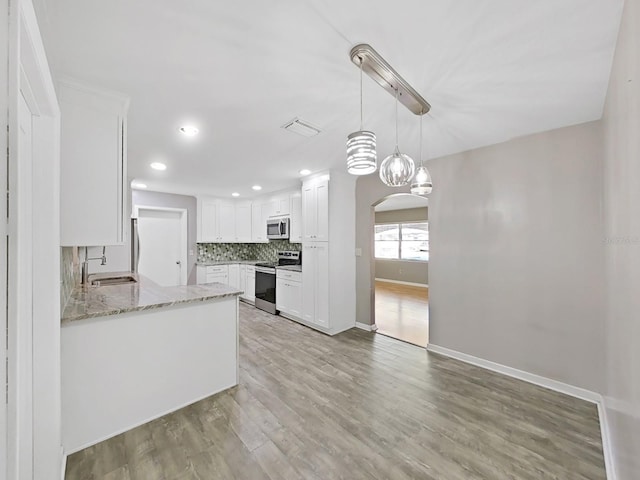
<svg viewBox="0 0 640 480"><path fill-rule="evenodd" d="M410 194L374 205L377 333L420 347L429 343L428 200Z"/></svg>

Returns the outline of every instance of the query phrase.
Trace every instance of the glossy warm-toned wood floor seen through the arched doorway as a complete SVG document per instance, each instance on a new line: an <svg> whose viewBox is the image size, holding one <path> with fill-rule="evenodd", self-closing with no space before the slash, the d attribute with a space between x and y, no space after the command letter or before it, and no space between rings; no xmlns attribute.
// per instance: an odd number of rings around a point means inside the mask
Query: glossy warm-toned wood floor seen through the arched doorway
<svg viewBox="0 0 640 480"><path fill-rule="evenodd" d="M429 289L376 280L378 333L426 347L429 342Z"/></svg>

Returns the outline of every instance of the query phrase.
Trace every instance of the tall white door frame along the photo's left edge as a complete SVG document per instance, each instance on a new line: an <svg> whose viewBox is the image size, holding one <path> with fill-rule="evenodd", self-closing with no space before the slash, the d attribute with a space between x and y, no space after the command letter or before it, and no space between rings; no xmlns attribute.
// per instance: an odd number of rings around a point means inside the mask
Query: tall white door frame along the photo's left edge
<svg viewBox="0 0 640 480"><path fill-rule="evenodd" d="M0 75L8 84L8 95L0 98L3 122L7 122L3 126L8 129L8 135L1 135L0 149L8 152L6 157L3 154L0 167L0 181L8 186L4 200L8 209L3 206L0 222L5 237L0 242L0 277L6 292L0 301L1 307L6 306L1 309L0 331L7 331L8 344L8 351L0 348L8 371L8 401L0 402L0 480L27 476L40 480L64 469L59 342L60 110L31 0L9 2L8 9L0 12L0 23L0 38L7 45L0 52ZM20 162L18 142L21 95L32 114L32 155L26 166ZM7 172L8 178L4 176ZM4 216L7 211L8 218ZM25 318L24 301L30 292L38 294L32 297L30 314ZM30 328L23 328L25 322ZM4 345L5 339L0 343ZM2 371L4 385L4 365ZM31 417L29 431L21 427L20 418L25 415ZM31 448L20 452L18 445L25 443Z"/></svg>

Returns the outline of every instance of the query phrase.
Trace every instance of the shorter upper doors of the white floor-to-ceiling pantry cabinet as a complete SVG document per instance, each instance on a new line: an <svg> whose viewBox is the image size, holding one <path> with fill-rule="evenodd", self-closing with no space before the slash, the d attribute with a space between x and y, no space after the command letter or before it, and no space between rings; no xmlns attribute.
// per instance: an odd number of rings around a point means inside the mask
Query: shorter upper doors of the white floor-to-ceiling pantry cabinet
<svg viewBox="0 0 640 480"><path fill-rule="evenodd" d="M314 179L302 185L302 239L329 241L329 181Z"/></svg>

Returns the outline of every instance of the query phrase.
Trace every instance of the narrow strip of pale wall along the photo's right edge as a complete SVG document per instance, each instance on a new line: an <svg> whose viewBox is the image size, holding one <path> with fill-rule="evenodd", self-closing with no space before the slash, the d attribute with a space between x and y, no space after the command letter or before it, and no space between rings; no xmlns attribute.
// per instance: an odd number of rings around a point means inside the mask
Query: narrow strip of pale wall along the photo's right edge
<svg viewBox="0 0 640 480"><path fill-rule="evenodd" d="M603 117L605 405L619 480L640 478L640 1L627 0Z"/></svg>

